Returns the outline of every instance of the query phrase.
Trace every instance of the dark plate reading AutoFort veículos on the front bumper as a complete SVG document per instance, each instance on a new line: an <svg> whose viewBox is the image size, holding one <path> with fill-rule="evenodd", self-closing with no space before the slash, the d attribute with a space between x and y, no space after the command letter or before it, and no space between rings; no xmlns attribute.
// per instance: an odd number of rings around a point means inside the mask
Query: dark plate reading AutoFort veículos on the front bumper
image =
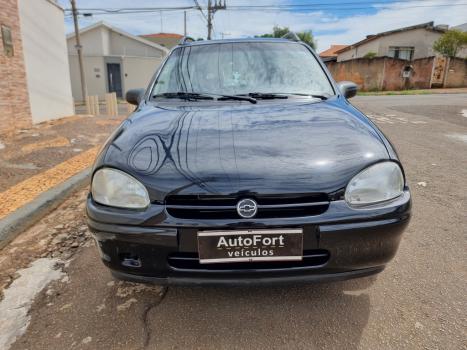
<svg viewBox="0 0 467 350"><path fill-rule="evenodd" d="M199 231L201 264L303 259L303 230Z"/></svg>

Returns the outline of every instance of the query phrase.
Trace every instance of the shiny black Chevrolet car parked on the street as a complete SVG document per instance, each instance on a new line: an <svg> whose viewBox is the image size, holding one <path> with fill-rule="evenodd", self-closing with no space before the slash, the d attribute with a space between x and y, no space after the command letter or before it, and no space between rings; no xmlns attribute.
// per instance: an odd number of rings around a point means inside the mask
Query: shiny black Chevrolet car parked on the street
<svg viewBox="0 0 467 350"><path fill-rule="evenodd" d="M175 47L93 168L88 224L121 279L340 280L382 271L410 218L394 147L306 44Z"/></svg>

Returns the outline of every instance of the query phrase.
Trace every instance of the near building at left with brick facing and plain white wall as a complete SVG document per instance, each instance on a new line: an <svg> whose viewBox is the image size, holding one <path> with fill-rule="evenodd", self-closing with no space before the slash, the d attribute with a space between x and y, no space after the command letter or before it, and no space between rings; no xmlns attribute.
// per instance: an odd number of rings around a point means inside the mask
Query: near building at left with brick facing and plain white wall
<svg viewBox="0 0 467 350"><path fill-rule="evenodd" d="M0 9L0 133L73 115L63 9L52 0Z"/></svg>

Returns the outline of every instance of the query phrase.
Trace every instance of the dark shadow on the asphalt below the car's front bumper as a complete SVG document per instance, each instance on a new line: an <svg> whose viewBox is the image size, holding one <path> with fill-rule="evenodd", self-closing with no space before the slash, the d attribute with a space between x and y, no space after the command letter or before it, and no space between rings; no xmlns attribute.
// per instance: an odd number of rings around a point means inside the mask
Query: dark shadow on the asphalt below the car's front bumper
<svg viewBox="0 0 467 350"><path fill-rule="evenodd" d="M150 310L160 348L357 349L376 277L287 287L169 287Z"/></svg>

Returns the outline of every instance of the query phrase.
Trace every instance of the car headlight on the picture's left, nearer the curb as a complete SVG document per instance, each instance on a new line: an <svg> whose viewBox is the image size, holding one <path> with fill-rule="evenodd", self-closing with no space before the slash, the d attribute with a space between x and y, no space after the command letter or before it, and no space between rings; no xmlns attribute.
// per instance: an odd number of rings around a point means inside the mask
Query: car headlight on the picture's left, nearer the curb
<svg viewBox="0 0 467 350"><path fill-rule="evenodd" d="M96 202L111 207L144 209L150 203L143 184L117 169L103 168L96 171L91 192Z"/></svg>

